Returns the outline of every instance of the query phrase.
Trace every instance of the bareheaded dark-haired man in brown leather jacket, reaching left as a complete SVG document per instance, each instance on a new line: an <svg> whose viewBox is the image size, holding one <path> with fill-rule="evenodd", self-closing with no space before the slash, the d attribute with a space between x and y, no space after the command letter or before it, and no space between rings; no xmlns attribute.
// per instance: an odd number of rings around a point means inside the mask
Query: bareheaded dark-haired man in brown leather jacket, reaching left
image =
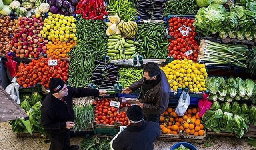
<svg viewBox="0 0 256 150"><path fill-rule="evenodd" d="M145 64L143 72L143 78L125 88L122 93L128 94L141 88L138 99L141 98L142 103L137 105L142 108L144 119L159 123L160 115L168 107L170 85L164 72L154 62Z"/></svg>

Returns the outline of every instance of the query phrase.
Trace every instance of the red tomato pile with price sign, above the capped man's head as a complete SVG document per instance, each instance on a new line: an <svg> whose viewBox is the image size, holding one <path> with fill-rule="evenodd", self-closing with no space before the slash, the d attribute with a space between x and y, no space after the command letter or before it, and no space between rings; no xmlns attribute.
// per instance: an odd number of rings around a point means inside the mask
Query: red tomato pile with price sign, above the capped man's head
<svg viewBox="0 0 256 150"><path fill-rule="evenodd" d="M49 58L32 59L29 64L20 63L16 74L17 82L20 86L28 88L40 82L46 88L49 87L50 78L68 79L68 63L66 60L58 59L58 65L48 66Z"/></svg>

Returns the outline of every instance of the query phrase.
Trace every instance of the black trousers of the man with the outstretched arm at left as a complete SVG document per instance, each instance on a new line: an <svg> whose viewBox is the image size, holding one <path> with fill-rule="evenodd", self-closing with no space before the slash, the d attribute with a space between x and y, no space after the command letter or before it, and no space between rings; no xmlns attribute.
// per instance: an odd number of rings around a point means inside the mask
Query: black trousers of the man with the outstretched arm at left
<svg viewBox="0 0 256 150"><path fill-rule="evenodd" d="M60 134L52 134L46 131L46 135L51 141L49 150L68 150L70 130Z"/></svg>

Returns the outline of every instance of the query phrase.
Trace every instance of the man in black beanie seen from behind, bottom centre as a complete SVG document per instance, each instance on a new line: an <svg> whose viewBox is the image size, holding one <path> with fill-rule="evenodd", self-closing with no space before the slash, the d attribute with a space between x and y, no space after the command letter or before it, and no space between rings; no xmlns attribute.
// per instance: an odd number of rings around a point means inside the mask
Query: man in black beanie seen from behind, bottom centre
<svg viewBox="0 0 256 150"><path fill-rule="evenodd" d="M153 150L154 141L160 136L156 122L145 122L140 106L133 105L126 112L130 125L113 141L114 150Z"/></svg>

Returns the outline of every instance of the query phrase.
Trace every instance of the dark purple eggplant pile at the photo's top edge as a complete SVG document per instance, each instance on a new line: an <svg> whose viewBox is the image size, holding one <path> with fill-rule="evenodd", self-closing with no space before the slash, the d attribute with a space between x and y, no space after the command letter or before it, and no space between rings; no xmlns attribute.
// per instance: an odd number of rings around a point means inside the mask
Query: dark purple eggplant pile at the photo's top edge
<svg viewBox="0 0 256 150"><path fill-rule="evenodd" d="M140 17L145 20L162 20L164 16L164 0L136 0L136 8Z"/></svg>

